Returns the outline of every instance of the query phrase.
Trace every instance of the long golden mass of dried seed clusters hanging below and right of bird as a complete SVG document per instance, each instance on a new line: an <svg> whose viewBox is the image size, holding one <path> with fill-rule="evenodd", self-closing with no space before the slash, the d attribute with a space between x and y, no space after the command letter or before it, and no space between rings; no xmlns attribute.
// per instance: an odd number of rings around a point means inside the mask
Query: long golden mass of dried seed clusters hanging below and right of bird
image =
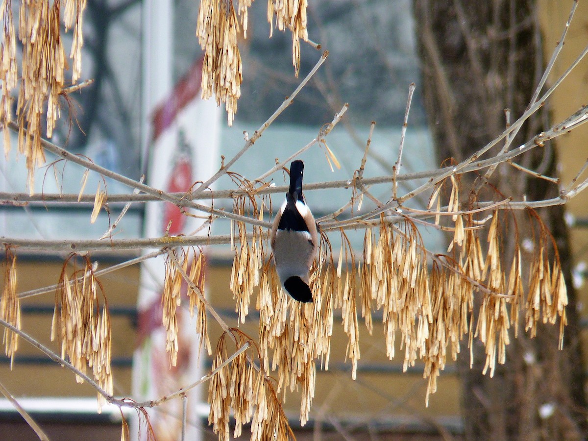
<svg viewBox="0 0 588 441"><path fill-rule="evenodd" d="M429 255L410 220L395 226L383 215L377 233L366 229L363 258L357 268L343 232L336 264L328 239L322 235L319 258L310 272L314 302L306 305L280 292L273 265L266 261L263 248L255 256L250 254L244 227L239 229L241 252L236 253L233 263L232 288L234 292L246 290L250 295L255 284L247 281L257 281L259 277L256 308L260 312L259 348L263 364L277 372L278 393L288 386L292 391L301 390L302 424L308 420L314 395L316 361L320 360L325 369L329 366L334 310L340 309L342 313L343 330L348 335L346 356L352 363L353 377L360 358L359 305L370 333L372 310L382 310L387 356L391 359L395 355L395 338L399 335L400 349L405 352L403 368L414 366L417 359L425 363L424 375L429 379L427 403L430 393L436 391L437 377L445 369L448 353L456 360L466 335L470 348L473 338L485 346L483 372L489 370L492 376L496 360L505 362L509 329L514 326L516 335L521 308L525 310L526 329L532 336L538 320L554 323L560 318L563 332L567 295L562 269L557 254L552 263L547 259L547 245L552 239L538 216L534 242L539 246L530 265L529 295L525 298L519 245L514 246L510 268L504 268L501 258L501 232L509 228L507 223L514 216L508 211L495 211L487 218L490 222L485 229L487 219L476 219L459 202L459 182L450 179L450 185L446 213L440 212L439 188L431 201L431 206L437 202L437 223L441 218L453 222L450 255ZM254 236L252 243L260 240L258 235ZM518 243L518 237L515 242ZM255 266L251 266L252 262ZM262 262L266 263L259 276ZM479 303L474 302L475 293L480 296ZM239 295L236 298L238 303L245 303ZM476 320L474 308L479 308ZM238 310L243 320L247 309Z"/></svg>

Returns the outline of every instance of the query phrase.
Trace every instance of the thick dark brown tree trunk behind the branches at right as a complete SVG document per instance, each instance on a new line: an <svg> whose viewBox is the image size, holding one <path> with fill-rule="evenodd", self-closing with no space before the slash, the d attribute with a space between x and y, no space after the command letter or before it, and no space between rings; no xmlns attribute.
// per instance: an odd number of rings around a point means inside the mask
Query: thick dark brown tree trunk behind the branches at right
<svg viewBox="0 0 588 441"><path fill-rule="evenodd" d="M425 108L439 160L462 161L505 129L505 109L510 109L515 121L529 104L543 69L536 5L533 0L413 1ZM536 113L513 145L538 133L546 119L546 112ZM553 146L533 149L518 161L540 173L556 174ZM499 167L490 179L490 185L503 195L516 199L525 195L529 200L557 195L556 185L507 167ZM467 439L568 440L584 439L588 433L580 326L563 208L539 214L556 239L566 275L569 305L564 348L557 349L558 326L540 326L534 339L519 329L519 338L512 336L507 346L506 364L490 378L482 375L482 345L474 343L473 368L469 369L467 356L458 361ZM521 239L531 237L527 219L525 213L517 213ZM503 235L504 243L513 243L512 230ZM523 265L529 257L530 253L523 256ZM510 262L508 256L505 261ZM523 273L528 272L526 268L528 263Z"/></svg>

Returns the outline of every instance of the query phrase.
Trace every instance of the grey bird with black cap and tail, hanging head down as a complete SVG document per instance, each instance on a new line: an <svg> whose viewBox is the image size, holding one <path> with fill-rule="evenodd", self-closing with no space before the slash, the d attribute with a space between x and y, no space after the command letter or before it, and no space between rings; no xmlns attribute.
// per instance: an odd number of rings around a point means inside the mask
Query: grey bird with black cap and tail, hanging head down
<svg viewBox="0 0 588 441"><path fill-rule="evenodd" d="M284 289L294 300L312 302L309 270L318 248L315 218L302 196L304 163L290 164L290 188L272 226L273 261Z"/></svg>

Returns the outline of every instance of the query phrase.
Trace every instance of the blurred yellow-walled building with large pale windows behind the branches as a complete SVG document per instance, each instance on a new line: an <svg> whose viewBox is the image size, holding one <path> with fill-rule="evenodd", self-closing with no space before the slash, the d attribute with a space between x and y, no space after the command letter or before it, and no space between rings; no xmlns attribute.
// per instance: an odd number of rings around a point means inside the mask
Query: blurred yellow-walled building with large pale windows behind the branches
<svg viewBox="0 0 588 441"><path fill-rule="evenodd" d="M306 163L305 182L349 179L359 168L371 121L376 121L377 125L366 176L389 174L396 160L411 82L415 82L417 88L405 142L404 171L436 168L432 141L420 103L420 72L415 45L417 30L410 0L309 3L309 38L329 49L329 59L293 105L263 134L248 156L235 164L233 171L248 179L262 175L275 165L276 158L286 158L315 138L320 127L330 122L343 103L348 102L350 108L345 121L327 140L342 168L330 171L324 151L315 146L301 157ZM569 14L567 3L562 6L552 0L539 2L546 56L550 55L561 35ZM149 51L145 39L153 32L162 32L162 29L149 29L146 25L146 16L150 13L147 8L151 7L153 4L148 1L88 0L83 75L93 79L94 83L76 95L69 112L64 108L64 115L52 139L69 151L82 153L100 165L133 179L139 179L148 172L149 154L153 147L150 125L153 105L165 101L166 96L172 93L173 85L185 78L201 57L195 37L198 5L191 0L177 0L169 9L168 31L171 33L172 53L169 56L171 65L166 66L169 69L169 79L166 80L168 92L161 93L151 106L146 105L145 87L149 83L146 76L152 78L157 73L145 71L145 57ZM565 51L556 66L560 72L588 41L588 9L586 5L580 6L580 9L582 11L576 14ZM299 82L293 76L290 35L274 31L271 39L268 36L266 5L254 2L249 12L248 39L239 42L244 72L236 121L228 127L225 115L219 115L218 155L225 158L232 157L243 145L243 132L255 131ZM319 56L320 52L302 45L301 77L312 68ZM155 61L152 62L156 65ZM584 63L557 92L551 109L554 121L560 121L588 101L587 72ZM175 122L172 122L171 130L176 129ZM587 130L584 126L558 141L564 182L569 182L575 174L573 165L577 163L577 158L581 161L586 158L588 146L581 140L588 139ZM0 191L26 192L24 163L22 159L17 161L15 149L12 149L11 155L8 161L0 161ZM48 157L48 163L52 161ZM37 192L79 192L83 169L72 164L64 167L58 163L55 170L59 183L56 183L53 169L38 171ZM194 178L195 181L208 176ZM276 173L274 179L276 185L282 185L281 175ZM91 173L86 192L93 194L100 181ZM129 192L129 189L108 179L106 186L109 194ZM233 188L233 184L229 179L221 180L218 188ZM328 198L320 191L306 194L317 218L335 211L349 199L348 191L334 194L330 192ZM588 250L586 197L580 196L568 205L577 265L575 276L577 286L582 289L583 305L587 299L586 289L582 288L586 274L583 262ZM275 204L281 200L282 196L279 196ZM215 206L230 210L232 201L215 201ZM113 213L118 213L120 208L122 205L110 204ZM0 235L45 239L96 238L108 229L109 218L102 211L97 222L90 225L91 211L90 204L85 208L78 204L61 204L56 208L49 202L28 206L2 204ZM219 221L215 223L213 232L227 233L229 228L228 222ZM116 229L116 238L139 238L144 232L145 206L132 205ZM430 249L442 252L444 238L439 233L427 230L422 233ZM350 237L353 246L360 249L363 235ZM135 253L109 252L93 255L92 260L98 262L99 268L105 268L135 256ZM56 283L64 257L18 252L19 292ZM211 303L229 325L237 326L235 303L229 289L232 251L229 246L209 247L206 257L206 280ZM116 396L132 394L132 361L138 322L136 305L141 286L139 271L136 265L101 278L113 319L112 364ZM55 343L49 342L54 296L48 293L26 299L22 302L22 311L24 330L58 350ZM584 309L582 313L586 315ZM299 397L289 396L286 400L286 412L299 439L460 439L459 383L453 366L445 369L439 381L439 390L430 398L426 408L426 380L422 377L422 365L417 363L415 368L402 373L401 354L392 361L387 359L385 343L381 338L382 327L377 325L377 317L373 336L368 335L365 327L360 328L362 358L355 381L351 379L349 363L343 362L345 334L340 327L335 330L330 368L328 372L318 373L311 420L305 427L300 427L298 422ZM252 311L240 328L256 336L257 318L255 311ZM214 345L220 329L212 325L212 320L209 333ZM586 353L588 349L584 350ZM209 366L210 361L206 360L202 369L208 370ZM9 359L0 357L0 378L53 439L119 439L121 414L118 409L107 409L97 415L95 391L87 385L78 385L69 371L31 346L21 343L12 370ZM205 385L201 390L204 399L207 387ZM200 406L190 420L202 429L202 439L215 439L207 427L207 416L206 406ZM4 434L3 439L34 436L5 400L0 400L0 433Z"/></svg>

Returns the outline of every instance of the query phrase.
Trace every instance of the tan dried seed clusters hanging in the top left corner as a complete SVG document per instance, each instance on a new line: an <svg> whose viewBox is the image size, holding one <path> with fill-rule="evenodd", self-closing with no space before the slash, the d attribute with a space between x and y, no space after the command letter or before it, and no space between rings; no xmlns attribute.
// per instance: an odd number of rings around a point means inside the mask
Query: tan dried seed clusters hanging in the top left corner
<svg viewBox="0 0 588 441"><path fill-rule="evenodd" d="M25 155L29 171L29 191L33 191L34 170L45 161L41 148L41 122L46 119L45 133L51 138L55 122L59 118L59 95L65 84L68 62L60 34L61 6L64 5L65 29L74 29L70 58L73 60L72 82L81 75L82 12L85 0L34 0L21 2L18 38L22 43L21 72L16 65L16 32L12 17L12 2L0 4L4 24L1 43L0 123L4 128L12 121L12 91L16 79L21 79L16 106L19 123L18 150ZM26 133L25 135L25 129ZM4 130L4 148L8 155L10 136Z"/></svg>

